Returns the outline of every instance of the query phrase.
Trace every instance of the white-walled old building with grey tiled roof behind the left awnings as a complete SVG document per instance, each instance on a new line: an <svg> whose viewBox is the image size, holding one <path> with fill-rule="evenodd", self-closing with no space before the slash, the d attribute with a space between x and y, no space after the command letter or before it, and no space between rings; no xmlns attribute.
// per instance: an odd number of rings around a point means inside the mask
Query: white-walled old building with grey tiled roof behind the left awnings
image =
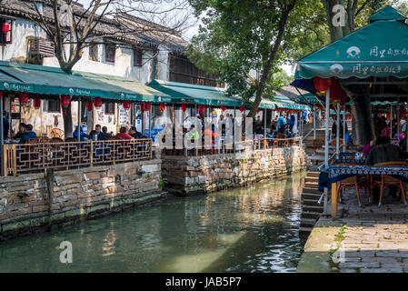
<svg viewBox="0 0 408 291"><path fill-rule="evenodd" d="M53 21L54 13L48 2L26 1L26 0L4 0L0 5L0 26L5 28L0 32L0 46L2 54L0 60L9 62L28 63L35 65L46 65L59 67L55 57L54 43L48 39L45 31L35 23L33 19L39 20L38 11L46 19ZM82 14L85 8L73 2L74 15ZM140 27L144 25L146 32L141 35L125 35L125 37L115 38L109 35L112 30L122 29L118 27L118 22L113 19L104 18L97 26L98 32L104 37L93 41L93 44L84 48L81 59L75 64L73 70L104 75L115 75L133 78L142 84L147 84L153 79L168 80L169 60L173 59L173 54L183 55L187 43L182 38L180 32L155 25L152 22L134 17L132 15L116 15L119 23L126 27ZM124 26L122 26L124 27ZM7 31L6 31L7 30ZM140 28L139 28L140 30ZM154 31L160 34L154 34ZM66 47L68 48L68 47ZM185 67L185 68L184 68ZM177 69L184 72L186 78L181 82L194 82L194 65L184 57L184 64L177 65ZM192 70L193 68L193 70ZM173 73L172 73L173 74ZM194 77L189 77L194 75ZM201 78L205 78L204 72L199 73ZM195 84L195 83L194 83ZM211 83L216 85L214 81ZM30 101L22 106L21 112L16 99L5 98L5 110L13 113L12 125L15 129L18 122L30 123L35 126L35 131L40 135L49 133L52 128L64 129L61 105L58 100L44 100L40 109L34 109ZM153 106L154 115L159 115L160 110ZM145 113L146 114L146 113ZM165 114L165 113L164 113ZM72 104L73 123L77 124L77 103ZM108 131L116 132L119 125L125 124L128 120L133 120L135 112L124 110L122 105L114 103L104 103L102 108L87 111L85 103L82 105L81 119L88 122L88 125L105 125ZM92 116L90 118L90 116ZM92 122L91 122L92 119Z"/></svg>

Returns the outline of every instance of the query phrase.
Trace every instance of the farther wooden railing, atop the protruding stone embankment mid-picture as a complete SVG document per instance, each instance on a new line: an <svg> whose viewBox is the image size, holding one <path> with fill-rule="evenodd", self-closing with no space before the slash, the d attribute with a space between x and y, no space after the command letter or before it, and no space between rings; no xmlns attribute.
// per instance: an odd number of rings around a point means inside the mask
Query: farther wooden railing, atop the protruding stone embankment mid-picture
<svg viewBox="0 0 408 291"><path fill-rule="evenodd" d="M200 143L197 145L197 143ZM173 148L164 148L162 153L167 156L207 156L207 155L219 155L219 154L231 154L236 152L242 152L244 150L264 150L275 147L289 147L289 146L301 146L302 137L296 136L292 138L272 138L262 137L254 138L251 140L245 140L243 137L241 143L234 143L234 141L227 143L224 140L214 142L211 146L204 145L204 140L201 138L190 139L191 147L185 147L183 140L180 140L178 145Z"/></svg>

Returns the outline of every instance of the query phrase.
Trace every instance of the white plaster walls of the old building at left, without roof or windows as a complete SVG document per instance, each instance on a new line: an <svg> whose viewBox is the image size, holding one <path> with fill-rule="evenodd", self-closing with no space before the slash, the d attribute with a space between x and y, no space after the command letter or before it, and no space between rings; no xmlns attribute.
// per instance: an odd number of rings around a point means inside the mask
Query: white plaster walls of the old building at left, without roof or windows
<svg viewBox="0 0 408 291"><path fill-rule="evenodd" d="M12 43L0 46L0 60L17 61L25 63L28 52L28 39L33 37L47 38L45 31L35 23L25 19L15 19L12 24ZM68 47L66 47L68 49ZM115 60L106 62L105 60L105 45L98 45L99 61L95 62L89 59L89 48L84 49L82 58L74 65L74 70L130 77L138 80L142 84L148 84L156 76L159 79L168 79L168 52L160 52L157 55L158 64L156 66L156 74L153 74L154 69L154 51L143 51L143 65L134 66L134 52L131 46L116 47ZM59 67L56 57L45 57L43 65ZM115 106L115 115L106 115L101 109L94 108L94 125L100 124L108 127L108 132L117 132L118 125L118 110L119 105ZM77 102L72 103L72 115L74 128L77 125ZM128 111L130 117L130 111ZM56 117L55 117L56 116ZM39 135L46 133L46 125L53 125L53 128L64 129L64 121L62 113L48 113L43 111L43 103L40 109L25 108L22 111L22 122L32 124L35 132ZM55 125L57 118L57 125ZM16 130L16 122L13 123L13 128ZM90 131L91 128L88 129Z"/></svg>

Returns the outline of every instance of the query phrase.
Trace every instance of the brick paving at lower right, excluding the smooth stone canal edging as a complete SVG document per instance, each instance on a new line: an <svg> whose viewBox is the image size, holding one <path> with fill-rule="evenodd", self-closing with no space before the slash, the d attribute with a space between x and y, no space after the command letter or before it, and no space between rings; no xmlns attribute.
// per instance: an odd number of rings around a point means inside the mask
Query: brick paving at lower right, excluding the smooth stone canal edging
<svg viewBox="0 0 408 291"><path fill-rule="evenodd" d="M343 194L343 227L335 239L339 271L408 272L408 208L391 196L380 208L368 205L368 194L362 198L358 207L355 191Z"/></svg>

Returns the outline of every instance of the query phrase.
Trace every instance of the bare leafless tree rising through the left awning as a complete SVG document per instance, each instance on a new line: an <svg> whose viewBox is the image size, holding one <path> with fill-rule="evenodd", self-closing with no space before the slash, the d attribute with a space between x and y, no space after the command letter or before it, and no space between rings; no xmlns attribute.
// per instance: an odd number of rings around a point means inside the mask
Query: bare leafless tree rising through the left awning
<svg viewBox="0 0 408 291"><path fill-rule="evenodd" d="M38 5L38 2L44 5ZM86 6L73 0L33 0L28 17L39 25L55 45L55 57L65 72L81 59L85 47L101 44L132 43L137 35L147 35L157 45L166 43L175 30L193 25L186 0L90 0ZM138 21L128 21L134 15ZM135 43L135 41L134 41ZM71 105L64 115L65 136L73 132Z"/></svg>

